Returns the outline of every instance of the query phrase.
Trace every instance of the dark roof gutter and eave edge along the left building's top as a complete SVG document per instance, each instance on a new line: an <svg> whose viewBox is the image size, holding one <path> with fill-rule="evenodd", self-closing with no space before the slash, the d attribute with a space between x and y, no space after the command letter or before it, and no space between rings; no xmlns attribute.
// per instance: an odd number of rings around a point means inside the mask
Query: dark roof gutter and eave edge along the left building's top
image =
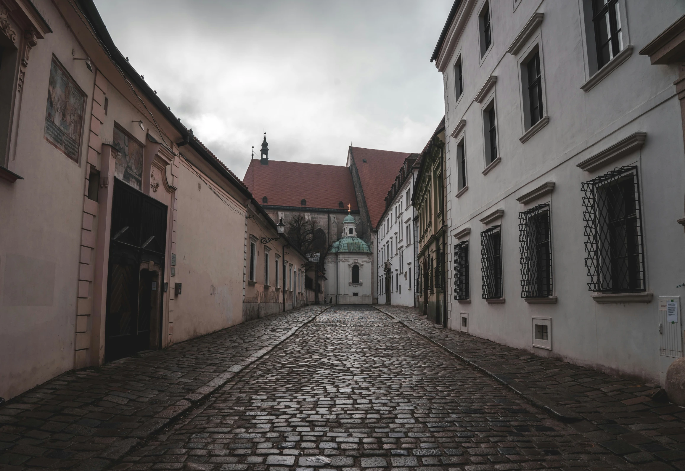
<svg viewBox="0 0 685 471"><path fill-rule="evenodd" d="M164 105L164 102L160 99L160 97L158 97L158 95L150 88L145 80L140 77L140 74L138 74L136 69L133 68L133 66L126 60L121 51L117 49L112 37L110 36L110 33L107 31L105 23L102 21L100 13L95 7L95 3L93 3L93 0L77 0L77 3L81 8L82 13L86 16L86 18L88 18L88 21L94 29L95 34L97 34L99 40L101 41L105 52L108 53L112 61L114 61L114 63L119 66L122 71L124 71L124 73L129 77L129 79L131 79L135 86L138 87L142 94L144 94L145 97L155 106L155 108L157 108L158 112L160 112L160 114L162 114L162 116L164 116L164 118L171 123L171 125L179 132L179 134L184 136L183 141L179 142L177 145L180 147L189 144L192 150L202 157L202 159L208 164L210 164L214 170L219 172L222 177L227 179L230 183L232 183L233 186L238 188L238 190L240 190L240 192L247 198L251 198L252 194L249 192L249 190L247 190L247 188L245 188L245 185L242 183L242 181L232 175L232 173L230 173L221 164L221 162L216 159L216 157L210 154L207 149L205 149L203 145L197 141L195 136L190 134L190 131L188 131L188 129L182 125L179 118L177 118L177 116L175 116L171 110L169 110L169 107Z"/></svg>

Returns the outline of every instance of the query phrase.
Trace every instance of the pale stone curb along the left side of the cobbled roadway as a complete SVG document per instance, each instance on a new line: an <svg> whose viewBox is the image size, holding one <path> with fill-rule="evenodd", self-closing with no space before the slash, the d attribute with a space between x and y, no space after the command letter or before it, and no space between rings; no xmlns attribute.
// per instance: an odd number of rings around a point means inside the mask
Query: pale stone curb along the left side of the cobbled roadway
<svg viewBox="0 0 685 471"><path fill-rule="evenodd" d="M197 390L191 392L190 394L187 394L186 397L182 400L177 401L177 403L175 403L174 405L167 407L160 413L156 414L150 420L147 420L147 422L144 422L140 427L129 433L128 436L130 438L122 440L121 442L114 442L112 444L113 446L105 448L105 450L100 455L98 455L98 457L110 459L112 461L120 459L126 453L132 450L132 448L138 445L141 440L144 440L150 435L153 435L154 433L166 427L172 420L175 420L182 413L190 409L190 407L192 407L193 405L197 405L197 403L199 403L201 400L210 396L210 394L212 394L214 391L218 390L220 387L225 385L225 383L227 383L229 379L232 379L234 376L236 376L236 374L238 374L238 372L243 370L246 366L253 364L255 361L266 355L266 353L269 353L274 348L282 344L285 340L288 340L288 338L292 337L292 335L295 335L295 333L303 329L303 327L306 327L306 325L313 322L317 317L321 316L321 314L327 311L330 307L332 307L332 305L329 305L328 307L325 307L318 313L313 314L306 320L303 320L303 322L295 324L295 326L293 326L290 329L290 331L284 333L279 338L273 340L269 345L256 351L249 357L243 358L242 360L238 361L238 363L230 366L229 368L227 368L227 370L225 370L225 372L219 374L216 378L212 379L212 381L209 381L206 385L197 388ZM82 465L83 464L84 463L82 463ZM107 466L107 464L104 464L103 466L98 466L98 468L102 470Z"/></svg>

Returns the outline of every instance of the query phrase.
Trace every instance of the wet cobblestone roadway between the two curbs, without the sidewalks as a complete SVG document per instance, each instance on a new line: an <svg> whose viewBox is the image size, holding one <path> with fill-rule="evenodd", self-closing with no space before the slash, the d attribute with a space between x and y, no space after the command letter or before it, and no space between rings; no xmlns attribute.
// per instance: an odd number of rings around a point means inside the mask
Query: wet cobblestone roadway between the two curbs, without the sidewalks
<svg viewBox="0 0 685 471"><path fill-rule="evenodd" d="M596 442L377 309L334 306L115 469L672 469Z"/></svg>

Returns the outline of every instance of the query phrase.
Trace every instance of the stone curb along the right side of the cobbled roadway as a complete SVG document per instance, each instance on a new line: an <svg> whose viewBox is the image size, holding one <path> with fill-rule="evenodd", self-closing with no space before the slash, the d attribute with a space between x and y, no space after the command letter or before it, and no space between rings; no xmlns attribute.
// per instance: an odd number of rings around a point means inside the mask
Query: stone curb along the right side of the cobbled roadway
<svg viewBox="0 0 685 471"><path fill-rule="evenodd" d="M528 387L521 383L517 383L513 381L510 377L506 376L506 374L501 374L501 373L495 373L491 370L489 370L486 366L480 364L479 361L472 360L469 357L465 357L458 351L453 350L452 348L449 348L448 346L440 343L438 340L435 340L434 338L429 337L424 331L421 331L419 329L416 329L416 327L412 327L411 325L407 324L394 314L390 314L389 312L384 311L380 307L373 306L379 311L381 311L383 314L386 314L386 316L390 316L390 318L393 318L396 322L401 323L404 327L407 327L408 329L418 333L421 335L423 338L429 340L430 342L436 344L440 348L443 348L444 350L447 350L449 353L463 361L469 366L473 366L473 368L476 368L480 372L483 372L487 374L489 377L495 379L498 383L501 385L504 385L508 387L508 389L512 390L516 394L519 394L519 396L523 397L525 400L528 402L532 403L533 405L536 405L537 407L540 407L540 409L543 409L545 412L549 414L552 418L555 418L556 420L559 420L560 422L564 422L566 424L572 424L573 422L579 422L580 420L586 420L583 416L580 416L580 414L577 414L573 411L570 411L566 407L557 404L553 400L550 400L543 396L542 394L538 394L536 392L531 391Z"/></svg>

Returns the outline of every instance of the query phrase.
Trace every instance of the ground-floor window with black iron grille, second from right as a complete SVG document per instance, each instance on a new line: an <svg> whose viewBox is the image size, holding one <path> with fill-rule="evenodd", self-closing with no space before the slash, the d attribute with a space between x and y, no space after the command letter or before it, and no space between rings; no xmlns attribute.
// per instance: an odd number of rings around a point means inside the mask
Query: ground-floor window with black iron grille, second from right
<svg viewBox="0 0 685 471"><path fill-rule="evenodd" d="M521 242L521 297L552 295L552 244L549 203L519 213Z"/></svg>

